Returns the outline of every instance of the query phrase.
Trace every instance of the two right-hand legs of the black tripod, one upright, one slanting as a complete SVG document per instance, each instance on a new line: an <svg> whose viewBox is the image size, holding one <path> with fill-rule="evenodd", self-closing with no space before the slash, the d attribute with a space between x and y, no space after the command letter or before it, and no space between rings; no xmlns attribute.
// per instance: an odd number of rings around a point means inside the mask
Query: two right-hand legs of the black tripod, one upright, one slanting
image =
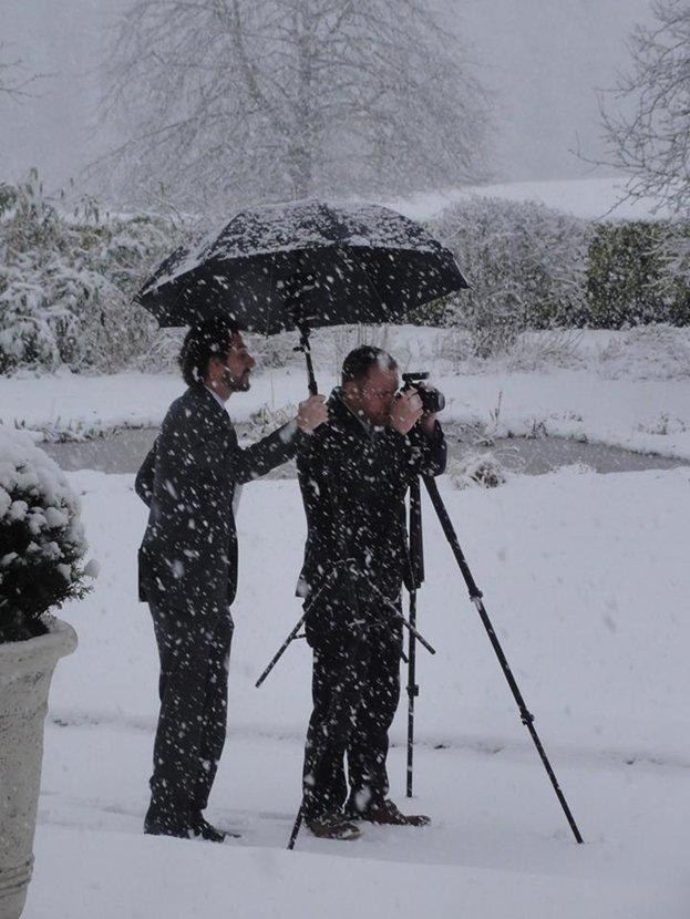
<svg viewBox="0 0 690 919"><path fill-rule="evenodd" d="M465 584L467 585L467 590L470 592L470 599L476 607L477 612L480 613L480 618L482 619L482 623L486 629L486 633L488 639L493 646L494 651L496 652L496 657L498 658L498 663L503 670L503 674L507 680L507 683L511 688L511 692L517 703L517 708L519 710L519 716L529 732L529 736L534 741L534 745L537 748L537 753L542 758L542 763L544 764L544 768L550 779L552 785L554 786L554 791L556 792L556 797L563 807L563 810L566 815L566 819L573 830L573 835L578 843L583 841L583 837L580 836L580 832L577 828L577 824L575 823L575 818L570 813L570 808L568 807L568 803L565 799L563 792L560 791L560 786L558 785L558 781L556 779L556 775L552 768L550 763L548 762L548 757L542 745L542 741L538 737L536 729L534 726L534 715L527 710L525 704L525 700L518 689L517 683L515 682L515 678L511 671L508 662L506 660L505 654L503 653L503 648L501 647L501 642L496 637L494 628L491 623L486 609L484 608L484 603L482 601L482 591L478 589L476 584L474 582L474 578L472 577L472 571L470 570L470 566L467 565L463 551L460 547L460 543L457 540L457 535L455 534L455 529L453 528L453 524L451 523L451 518L449 517L447 510L445 509L445 505L443 504L443 498L439 494L439 487L435 481L429 476L422 476L424 485L426 487L426 492L429 493L429 497L431 498L431 503L433 504L434 510L439 517L441 523L441 527L443 528L443 533L445 534L445 538L449 541L451 549L453 550L453 555L455 556L455 561L457 562L457 567L460 568L463 578L465 579ZM424 565L423 565L423 551L422 551L422 512L421 512L421 499L420 499L420 482L419 477L412 483L410 487L410 556L411 556L411 579L412 582L410 585L410 624L415 628L416 626L416 588L421 586L422 581L424 580ZM414 700L419 695L419 686L415 682L415 638L414 632L410 630L410 643L409 643L409 651L408 651L408 773L406 773L406 794L408 797L412 795L412 764L413 764L413 746L414 746Z"/></svg>

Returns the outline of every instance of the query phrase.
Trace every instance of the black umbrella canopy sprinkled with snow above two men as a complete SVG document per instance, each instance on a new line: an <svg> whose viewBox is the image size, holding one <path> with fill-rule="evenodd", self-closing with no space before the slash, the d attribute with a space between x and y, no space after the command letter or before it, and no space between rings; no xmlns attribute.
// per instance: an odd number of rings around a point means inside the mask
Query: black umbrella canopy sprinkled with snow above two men
<svg viewBox="0 0 690 919"><path fill-rule="evenodd" d="M378 205L297 202L240 210L181 248L137 295L161 326L230 316L245 331L401 322L467 287L452 252Z"/></svg>

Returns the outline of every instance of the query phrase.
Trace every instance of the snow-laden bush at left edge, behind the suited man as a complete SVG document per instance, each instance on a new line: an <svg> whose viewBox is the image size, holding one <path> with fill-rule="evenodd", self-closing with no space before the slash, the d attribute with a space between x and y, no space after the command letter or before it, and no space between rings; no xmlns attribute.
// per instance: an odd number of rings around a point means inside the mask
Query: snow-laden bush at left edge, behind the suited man
<svg viewBox="0 0 690 919"><path fill-rule="evenodd" d="M132 296L176 234L162 217L103 215L92 199L68 218L35 172L0 186L0 373L112 371L145 351L156 323Z"/></svg>

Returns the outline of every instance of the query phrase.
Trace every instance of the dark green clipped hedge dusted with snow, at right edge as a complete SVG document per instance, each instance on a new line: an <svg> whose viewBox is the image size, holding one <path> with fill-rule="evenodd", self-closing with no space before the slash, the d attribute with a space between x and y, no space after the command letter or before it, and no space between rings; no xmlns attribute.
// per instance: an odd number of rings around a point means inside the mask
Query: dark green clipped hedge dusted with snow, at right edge
<svg viewBox="0 0 690 919"><path fill-rule="evenodd" d="M678 257L688 226L652 220L594 227L585 321L594 329L650 322L690 324L688 260Z"/></svg>

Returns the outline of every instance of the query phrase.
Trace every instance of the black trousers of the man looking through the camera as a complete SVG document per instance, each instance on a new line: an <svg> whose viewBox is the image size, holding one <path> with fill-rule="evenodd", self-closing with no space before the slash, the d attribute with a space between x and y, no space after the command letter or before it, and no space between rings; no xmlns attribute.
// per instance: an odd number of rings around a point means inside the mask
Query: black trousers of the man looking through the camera
<svg viewBox="0 0 690 919"><path fill-rule="evenodd" d="M389 783L388 732L400 700L399 623L361 626L313 648L312 700L302 777L303 816L365 810L382 802ZM348 784L344 755L348 757Z"/></svg>

